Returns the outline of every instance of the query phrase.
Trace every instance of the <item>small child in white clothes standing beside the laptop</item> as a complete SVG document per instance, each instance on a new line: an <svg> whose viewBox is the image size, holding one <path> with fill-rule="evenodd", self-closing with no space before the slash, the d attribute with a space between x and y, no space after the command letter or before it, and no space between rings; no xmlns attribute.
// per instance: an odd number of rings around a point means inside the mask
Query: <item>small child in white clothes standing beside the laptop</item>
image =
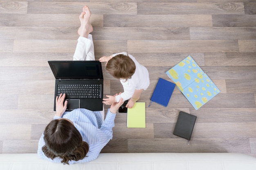
<svg viewBox="0 0 256 170"><path fill-rule="evenodd" d="M130 54L121 52L104 56L99 59L100 62L106 63L106 70L115 78L120 79L124 87L124 92L114 96L107 95L103 98L103 103L111 105L113 102L119 102L120 98L129 100L126 107L132 108L140 98L141 92L149 86L148 70L138 63Z"/></svg>

